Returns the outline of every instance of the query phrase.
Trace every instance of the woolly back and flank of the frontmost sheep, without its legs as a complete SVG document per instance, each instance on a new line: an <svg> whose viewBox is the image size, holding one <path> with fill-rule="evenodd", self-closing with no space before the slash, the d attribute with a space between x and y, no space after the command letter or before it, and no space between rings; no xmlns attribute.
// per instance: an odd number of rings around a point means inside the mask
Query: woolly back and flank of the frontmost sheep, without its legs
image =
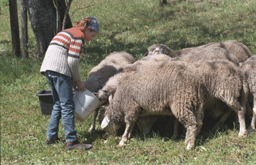
<svg viewBox="0 0 256 165"><path fill-rule="evenodd" d="M193 77L193 78L191 78ZM114 123L125 122L124 116L136 118L147 115L171 115L170 102L177 102L180 95L184 100L195 104L200 102L196 96L198 81L195 70L188 70L182 62L166 61L159 65L141 68L138 72L122 77L115 93L111 111L106 111ZM186 93L186 91L190 91ZM203 96L202 93L200 96ZM183 99L182 99L183 100ZM141 111L131 111L131 107L140 106ZM174 104L173 104L174 105ZM181 102L175 104L182 106ZM194 105L195 107L198 105ZM142 110L143 109L143 110ZM180 107L180 109L182 109ZM113 113L114 112L114 113Z"/></svg>

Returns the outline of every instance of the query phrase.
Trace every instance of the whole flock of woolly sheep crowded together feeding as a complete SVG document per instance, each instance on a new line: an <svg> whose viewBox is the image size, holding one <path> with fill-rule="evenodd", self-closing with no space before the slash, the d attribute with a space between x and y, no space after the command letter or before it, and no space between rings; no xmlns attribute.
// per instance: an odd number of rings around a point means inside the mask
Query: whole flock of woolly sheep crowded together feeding
<svg viewBox="0 0 256 165"><path fill-rule="evenodd" d="M134 125L147 134L159 116L174 116L173 139L179 136L179 123L184 126L188 150L195 146L204 113L220 117L214 129L233 111L239 137L255 130L256 56L241 42L212 42L180 51L154 44L138 61L127 52L113 52L90 71L84 85L104 107L101 127L112 135L125 128L120 146L131 138ZM248 130L245 114L252 120Z"/></svg>

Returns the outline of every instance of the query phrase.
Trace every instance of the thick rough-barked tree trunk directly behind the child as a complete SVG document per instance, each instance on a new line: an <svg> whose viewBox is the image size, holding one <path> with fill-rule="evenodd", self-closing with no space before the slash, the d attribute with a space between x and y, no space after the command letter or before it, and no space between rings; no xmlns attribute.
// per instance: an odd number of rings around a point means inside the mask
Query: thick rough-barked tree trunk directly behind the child
<svg viewBox="0 0 256 165"><path fill-rule="evenodd" d="M33 29L37 54L44 58L49 43L56 35L56 8L52 0L27 0L31 28Z"/></svg>

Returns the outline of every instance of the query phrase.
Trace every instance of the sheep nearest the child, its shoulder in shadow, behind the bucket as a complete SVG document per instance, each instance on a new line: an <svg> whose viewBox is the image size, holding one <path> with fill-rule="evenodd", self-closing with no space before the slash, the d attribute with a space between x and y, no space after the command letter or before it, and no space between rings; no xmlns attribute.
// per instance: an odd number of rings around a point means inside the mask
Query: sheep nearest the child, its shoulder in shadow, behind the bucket
<svg viewBox="0 0 256 165"><path fill-rule="evenodd" d="M132 55L127 52L112 52L105 59L100 61L99 65L90 70L88 79L84 81L85 88L93 93L97 93L104 86L106 81L108 81L109 77L115 75L120 68L134 62L135 60ZM98 111L99 109L96 109L93 112L93 122L89 130L91 135L95 130L95 122Z"/></svg>

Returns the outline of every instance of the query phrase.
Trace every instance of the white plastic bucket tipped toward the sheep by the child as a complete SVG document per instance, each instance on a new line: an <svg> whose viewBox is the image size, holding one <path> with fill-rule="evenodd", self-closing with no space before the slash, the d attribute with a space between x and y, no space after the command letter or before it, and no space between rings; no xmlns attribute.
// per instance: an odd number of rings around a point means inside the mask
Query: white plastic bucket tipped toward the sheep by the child
<svg viewBox="0 0 256 165"><path fill-rule="evenodd" d="M100 106L100 101L89 90L76 91L74 95L75 102L75 118L83 122L90 116L97 107Z"/></svg>

